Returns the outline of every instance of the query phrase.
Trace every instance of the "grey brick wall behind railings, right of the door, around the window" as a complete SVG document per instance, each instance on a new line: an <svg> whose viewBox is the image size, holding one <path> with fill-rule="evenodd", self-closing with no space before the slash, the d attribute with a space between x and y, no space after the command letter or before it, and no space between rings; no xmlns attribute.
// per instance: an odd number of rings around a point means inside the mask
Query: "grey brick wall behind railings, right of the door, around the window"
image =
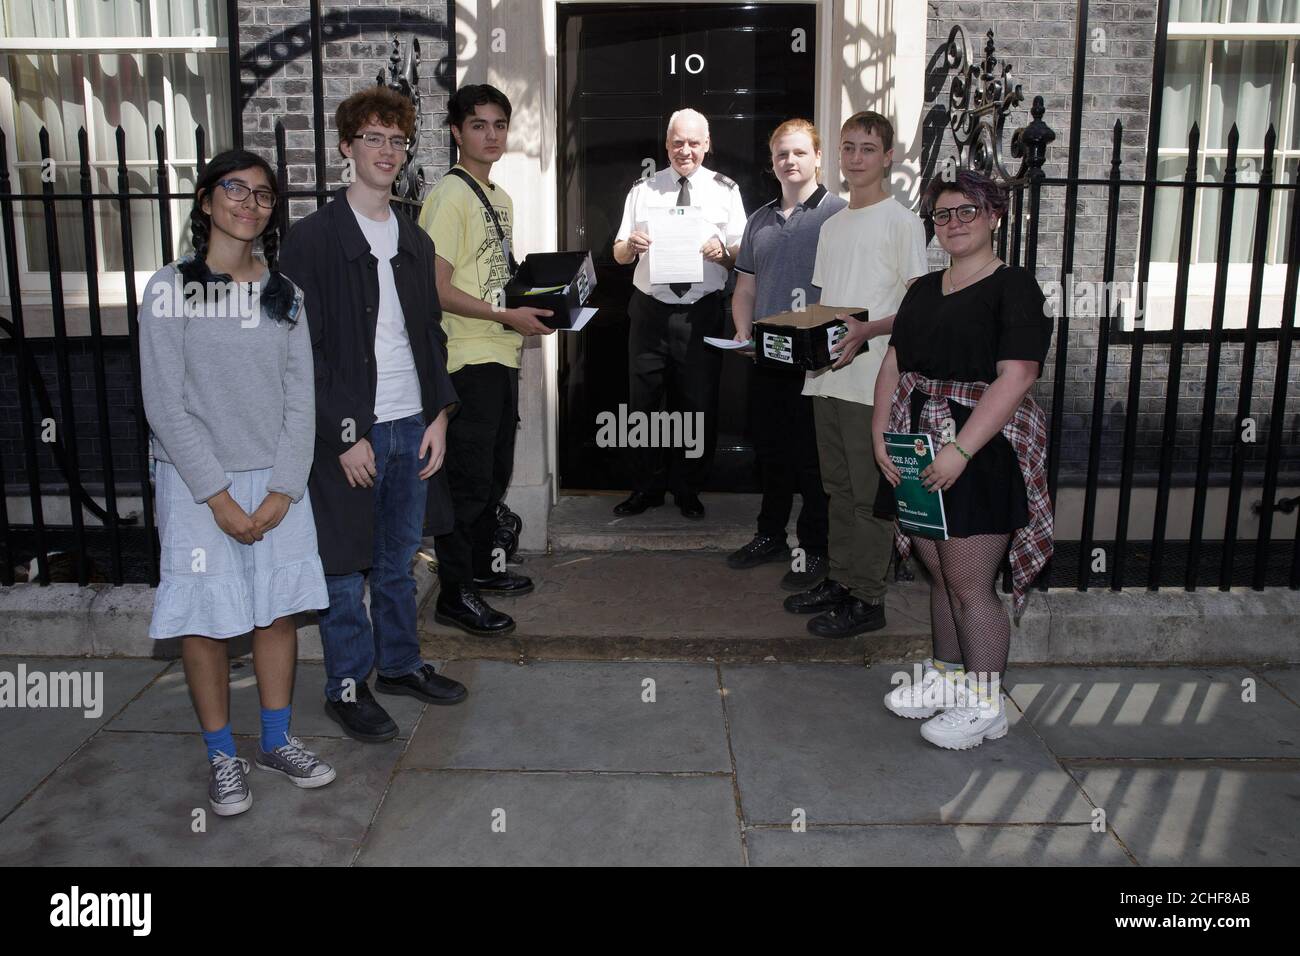
<svg viewBox="0 0 1300 956"><path fill-rule="evenodd" d="M992 29L1000 61L1010 62L1014 82L1023 86L1026 101L1023 112L1008 124L1005 146L1010 146L1010 133L1028 122L1028 108L1035 95L1041 95L1046 113L1044 120L1056 133L1048 147L1044 166L1049 177L1063 177L1067 172L1070 140L1070 98L1074 83L1075 4L1037 3L1034 0L930 0L928 49L936 53L948 39L954 23L966 30L971 53L976 61L983 57L984 33ZM1140 178L1145 173L1148 111L1150 105L1152 60L1154 56L1156 4L1149 0L1117 0L1089 5L1088 33L1092 42L1102 40L1104 49L1089 48L1084 83L1083 125L1080 140L1079 174L1083 178L1104 178L1110 173L1112 138L1115 120L1123 124L1121 150L1122 176ZM1102 31L1097 34L1096 31ZM941 92L935 105L944 109L948 103L950 78L942 60L937 60L930 74L931 88ZM953 153L953 143L946 127L927 124L927 130L937 129L942 144L936 144L936 134L930 133L924 155L933 160ZM1017 161L1018 163L1018 161ZM1009 161L1010 165L1010 161ZM1014 166L1013 166L1014 172ZM1044 190L1039 217L1040 281L1061 278L1063 234L1063 187ZM1075 219L1074 277L1076 281L1102 278L1105 252L1105 187L1080 187ZM1117 246L1117 280L1127 280L1138 258L1138 230L1140 222L1140 190L1122 194L1119 237ZM936 265L946 258L932 243ZM1230 304L1230 308L1234 307ZM1242 308L1242 303L1235 307ZM1043 381L1035 395L1044 408L1050 410L1054 376L1056 345L1048 358ZM1231 444L1236 436L1236 402L1242 376L1240 343L1223 346L1218 395L1214 411L1214 444L1212 468L1219 476L1231 460ZM1201 403L1205 394L1208 367L1206 345L1184 349L1182 380L1179 384L1178 428L1173 436L1164 431L1165 394L1169 386L1167 345L1148 345L1143 356L1141 397L1139 401L1138 476L1139 481L1153 480L1158 468L1160 451L1166 441L1174 442L1174 471L1180 483L1195 473L1201 423ZM1112 345L1106 369L1105 414L1101 423L1102 481L1117 481L1119 453L1123 440L1124 403L1128 390L1128 346ZM1063 407L1063 434L1061 444L1061 479L1063 484L1082 484L1087 468L1088 433L1092 427L1093 376L1097 364L1097 319L1075 316L1067 338L1067 359ZM1262 475L1266 453L1270 407L1277 373L1277 343L1261 343L1253 376L1251 414L1258 423L1258 441L1245 445L1247 473ZM1282 471L1292 479L1300 476L1300 362L1292 362L1287 390L1287 414L1280 427L1283 434Z"/></svg>

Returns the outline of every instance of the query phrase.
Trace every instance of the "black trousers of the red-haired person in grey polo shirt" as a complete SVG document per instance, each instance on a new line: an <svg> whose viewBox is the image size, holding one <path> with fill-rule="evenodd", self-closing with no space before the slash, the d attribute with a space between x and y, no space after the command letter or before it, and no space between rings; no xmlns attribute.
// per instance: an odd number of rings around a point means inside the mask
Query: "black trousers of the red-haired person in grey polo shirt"
<svg viewBox="0 0 1300 956"><path fill-rule="evenodd" d="M802 394L803 373L755 365L749 381L750 434L763 488L758 533L785 538L798 492L803 499L797 524L800 548L824 555L827 494L818 468L812 399Z"/></svg>

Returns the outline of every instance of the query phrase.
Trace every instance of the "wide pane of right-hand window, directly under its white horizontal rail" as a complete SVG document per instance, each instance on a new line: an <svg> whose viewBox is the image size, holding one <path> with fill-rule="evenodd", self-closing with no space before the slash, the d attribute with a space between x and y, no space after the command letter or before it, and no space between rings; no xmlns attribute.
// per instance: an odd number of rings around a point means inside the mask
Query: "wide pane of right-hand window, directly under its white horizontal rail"
<svg viewBox="0 0 1300 956"><path fill-rule="evenodd" d="M1273 124L1282 133L1282 87L1287 44L1278 42L1221 40L1210 52L1209 129L1201 142L1227 147L1227 131L1236 124L1242 148L1264 147Z"/></svg>

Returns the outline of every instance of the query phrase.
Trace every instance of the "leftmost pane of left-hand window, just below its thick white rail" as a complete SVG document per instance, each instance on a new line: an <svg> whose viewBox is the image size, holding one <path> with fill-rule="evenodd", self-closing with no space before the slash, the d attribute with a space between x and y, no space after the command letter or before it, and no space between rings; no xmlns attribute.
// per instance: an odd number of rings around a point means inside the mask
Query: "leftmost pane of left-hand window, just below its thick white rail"
<svg viewBox="0 0 1300 956"><path fill-rule="evenodd" d="M40 161L40 127L49 130L49 155L65 163L77 159L77 130L86 124L82 108L84 57L52 53L10 53L5 69L14 98L17 159Z"/></svg>

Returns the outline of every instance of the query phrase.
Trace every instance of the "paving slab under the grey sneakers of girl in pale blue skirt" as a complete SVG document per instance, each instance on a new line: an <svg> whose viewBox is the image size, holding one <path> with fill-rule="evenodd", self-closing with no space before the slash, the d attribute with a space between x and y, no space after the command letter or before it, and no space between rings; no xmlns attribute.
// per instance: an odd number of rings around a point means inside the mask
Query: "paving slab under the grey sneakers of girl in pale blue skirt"
<svg viewBox="0 0 1300 956"><path fill-rule="evenodd" d="M248 757L254 741L240 739ZM338 770L299 790L254 767L254 805L208 806L203 745L176 734L98 735L0 823L0 866L344 866L352 861L402 752L390 744L308 741ZM194 832L194 812L205 832Z"/></svg>

